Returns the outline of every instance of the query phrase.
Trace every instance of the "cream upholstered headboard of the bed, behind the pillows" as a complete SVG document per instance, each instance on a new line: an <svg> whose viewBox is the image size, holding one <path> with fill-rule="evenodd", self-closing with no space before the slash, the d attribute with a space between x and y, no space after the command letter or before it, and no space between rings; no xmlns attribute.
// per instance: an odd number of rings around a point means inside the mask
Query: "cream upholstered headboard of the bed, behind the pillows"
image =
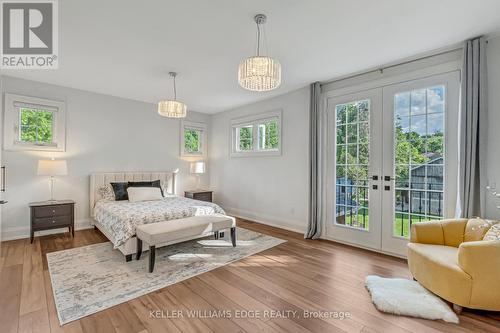
<svg viewBox="0 0 500 333"><path fill-rule="evenodd" d="M138 182L160 180L162 187L169 194L176 194L176 178L179 170L161 172L102 172L90 175L90 216L92 217L95 203L101 199L99 188L111 182Z"/></svg>

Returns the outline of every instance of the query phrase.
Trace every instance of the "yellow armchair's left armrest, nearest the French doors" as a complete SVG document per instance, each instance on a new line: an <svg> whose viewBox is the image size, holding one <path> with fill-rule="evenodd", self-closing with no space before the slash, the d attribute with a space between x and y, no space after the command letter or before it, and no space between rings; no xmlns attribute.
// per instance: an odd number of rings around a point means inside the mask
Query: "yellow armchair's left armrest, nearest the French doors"
<svg viewBox="0 0 500 333"><path fill-rule="evenodd" d="M467 219L445 219L413 223L410 242L458 246L463 241L467 221Z"/></svg>

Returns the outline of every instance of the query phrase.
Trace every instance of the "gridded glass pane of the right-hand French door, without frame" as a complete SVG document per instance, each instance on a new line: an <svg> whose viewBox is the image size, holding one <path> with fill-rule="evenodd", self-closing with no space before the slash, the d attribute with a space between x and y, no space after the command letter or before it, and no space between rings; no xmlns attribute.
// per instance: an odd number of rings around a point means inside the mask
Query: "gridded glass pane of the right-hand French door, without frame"
<svg viewBox="0 0 500 333"><path fill-rule="evenodd" d="M394 236L443 217L445 93L439 85L394 95Z"/></svg>

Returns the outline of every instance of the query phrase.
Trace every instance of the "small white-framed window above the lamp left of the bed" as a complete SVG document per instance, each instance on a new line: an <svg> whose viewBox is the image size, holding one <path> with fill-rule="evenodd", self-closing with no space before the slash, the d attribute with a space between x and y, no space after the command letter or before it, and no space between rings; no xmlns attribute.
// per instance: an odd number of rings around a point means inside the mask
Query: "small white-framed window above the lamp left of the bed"
<svg viewBox="0 0 500 333"><path fill-rule="evenodd" d="M4 148L65 151L65 103L5 94Z"/></svg>

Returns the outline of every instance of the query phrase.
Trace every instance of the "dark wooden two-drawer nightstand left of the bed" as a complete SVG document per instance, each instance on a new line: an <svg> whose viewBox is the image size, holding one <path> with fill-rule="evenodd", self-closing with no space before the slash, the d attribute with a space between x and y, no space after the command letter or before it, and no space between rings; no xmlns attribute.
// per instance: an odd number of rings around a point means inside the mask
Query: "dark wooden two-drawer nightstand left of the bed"
<svg viewBox="0 0 500 333"><path fill-rule="evenodd" d="M30 203L30 238L33 243L35 231L68 228L75 237L75 202L73 200L53 200Z"/></svg>

